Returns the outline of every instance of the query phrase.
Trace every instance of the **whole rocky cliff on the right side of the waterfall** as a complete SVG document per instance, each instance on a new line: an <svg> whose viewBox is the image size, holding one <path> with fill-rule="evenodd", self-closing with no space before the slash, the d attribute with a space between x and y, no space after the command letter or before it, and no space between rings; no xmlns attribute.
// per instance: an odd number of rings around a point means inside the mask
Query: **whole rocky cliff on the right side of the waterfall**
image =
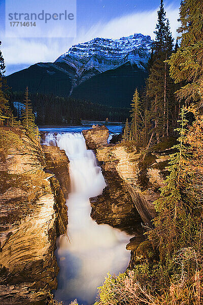
<svg viewBox="0 0 203 305"><path fill-rule="evenodd" d="M97 223L134 233L135 237L126 246L131 250L130 266L133 266L140 248L147 252L150 247L144 241L143 233L145 227L152 227L151 221L156 215L153 202L159 198L159 189L164 186L168 152L156 150L143 156L129 143L99 146L99 133L94 129L89 130L88 137L83 134L87 146L90 143L89 148L92 148L91 138L95 141L97 136L96 158L107 182L103 194L90 199L91 216ZM143 241L145 247L140 246Z"/></svg>

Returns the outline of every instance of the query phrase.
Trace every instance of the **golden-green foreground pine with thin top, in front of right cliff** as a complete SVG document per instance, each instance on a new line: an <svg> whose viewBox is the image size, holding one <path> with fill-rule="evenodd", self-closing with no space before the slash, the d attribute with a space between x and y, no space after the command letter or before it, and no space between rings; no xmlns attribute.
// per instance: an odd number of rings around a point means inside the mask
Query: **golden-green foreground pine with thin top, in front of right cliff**
<svg viewBox="0 0 203 305"><path fill-rule="evenodd" d="M194 200L187 197L187 173L185 164L188 159L188 147L185 146L187 136L187 110L183 107L179 121L179 144L174 148L177 152L171 155L171 172L166 179L166 186L162 188L160 198L154 202L158 216L154 219L155 229L150 231L149 238L159 245L160 257L164 260L178 248L186 247L190 242L190 234L194 225L190 211L187 208L188 201L192 204ZM190 223L188 220L190 219ZM184 231L184 234L183 234Z"/></svg>

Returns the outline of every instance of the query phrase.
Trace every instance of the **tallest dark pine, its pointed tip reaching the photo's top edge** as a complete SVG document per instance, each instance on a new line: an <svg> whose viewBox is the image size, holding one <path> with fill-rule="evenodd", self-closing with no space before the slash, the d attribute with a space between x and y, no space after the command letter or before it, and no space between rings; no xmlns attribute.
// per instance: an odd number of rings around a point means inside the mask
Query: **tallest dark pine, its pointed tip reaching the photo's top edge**
<svg viewBox="0 0 203 305"><path fill-rule="evenodd" d="M169 93L172 90L167 59L173 50L173 37L170 31L170 23L165 18L163 1L161 0L158 11L158 23L154 42L153 63L147 81L147 95L151 99L151 114L154 121L154 132L157 142L160 137L169 136L171 120L171 104L169 104Z"/></svg>

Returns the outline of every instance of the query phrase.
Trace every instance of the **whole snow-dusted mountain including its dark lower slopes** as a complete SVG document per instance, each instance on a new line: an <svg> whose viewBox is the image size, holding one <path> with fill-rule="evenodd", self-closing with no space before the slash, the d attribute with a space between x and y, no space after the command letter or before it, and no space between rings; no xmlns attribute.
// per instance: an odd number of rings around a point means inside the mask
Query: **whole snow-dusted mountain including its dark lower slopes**
<svg viewBox="0 0 203 305"><path fill-rule="evenodd" d="M108 105L130 105L147 77L150 36L94 38L73 45L54 63L38 63L7 77L16 91L52 93Z"/></svg>

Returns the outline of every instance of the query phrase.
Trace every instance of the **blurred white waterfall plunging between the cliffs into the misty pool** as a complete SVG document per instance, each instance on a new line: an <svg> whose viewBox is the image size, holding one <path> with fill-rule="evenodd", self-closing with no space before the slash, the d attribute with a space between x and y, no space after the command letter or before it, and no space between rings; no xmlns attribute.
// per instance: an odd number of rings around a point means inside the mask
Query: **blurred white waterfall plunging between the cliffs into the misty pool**
<svg viewBox="0 0 203 305"><path fill-rule="evenodd" d="M93 304L97 287L107 272L118 274L126 269L130 253L125 246L129 236L108 225L97 225L90 217L89 198L101 194L106 183L93 151L86 149L82 134L49 134L46 143L57 143L65 150L71 178L71 193L66 201L71 243L65 236L58 239L60 271L54 295L65 305L75 298L79 303Z"/></svg>

